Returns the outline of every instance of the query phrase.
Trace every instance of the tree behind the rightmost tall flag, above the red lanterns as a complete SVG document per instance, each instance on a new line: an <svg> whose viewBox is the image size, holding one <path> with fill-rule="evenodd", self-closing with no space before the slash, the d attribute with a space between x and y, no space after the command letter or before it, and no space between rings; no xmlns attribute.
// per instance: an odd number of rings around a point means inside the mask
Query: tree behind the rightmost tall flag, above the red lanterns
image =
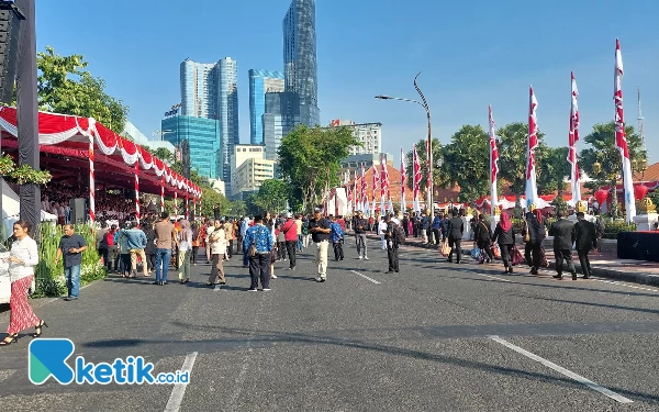
<svg viewBox="0 0 659 412"><path fill-rule="evenodd" d="M643 141L633 126L625 125L629 158L634 160L646 160L647 152L643 148ZM593 131L583 138L591 147L584 148L579 155L579 165L585 170L595 185L589 185L592 189L615 182L623 172L621 153L615 146L615 122L599 123ZM599 164L597 167L593 165Z"/></svg>

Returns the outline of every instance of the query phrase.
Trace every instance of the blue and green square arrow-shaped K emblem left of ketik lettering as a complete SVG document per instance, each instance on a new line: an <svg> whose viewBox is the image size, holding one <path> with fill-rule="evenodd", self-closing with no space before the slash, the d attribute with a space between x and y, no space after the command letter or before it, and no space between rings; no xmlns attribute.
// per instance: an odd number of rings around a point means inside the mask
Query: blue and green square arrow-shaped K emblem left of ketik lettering
<svg viewBox="0 0 659 412"><path fill-rule="evenodd" d="M40 338L30 342L27 369L30 381L42 385L51 376L60 385L69 385L75 379L74 369L66 360L76 346L70 339Z"/></svg>

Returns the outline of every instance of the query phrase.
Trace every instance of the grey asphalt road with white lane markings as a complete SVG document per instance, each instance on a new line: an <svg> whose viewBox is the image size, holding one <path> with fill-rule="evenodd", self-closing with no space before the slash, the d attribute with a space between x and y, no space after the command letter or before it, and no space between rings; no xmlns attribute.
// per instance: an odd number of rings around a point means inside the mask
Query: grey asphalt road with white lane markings
<svg viewBox="0 0 659 412"><path fill-rule="evenodd" d="M144 356L187 386L34 386L25 336L0 348L0 408L12 411L658 411L659 289L555 280L500 264L447 264L436 252L370 260L330 253L327 281L311 254L277 264L269 292L247 292L242 256L227 285L111 277L76 302L34 301L44 337L74 356ZM174 270L170 280L176 280ZM9 312L0 313L7 325ZM4 327L4 326L2 326ZM32 331L26 331L32 333ZM69 359L72 365L72 360Z"/></svg>

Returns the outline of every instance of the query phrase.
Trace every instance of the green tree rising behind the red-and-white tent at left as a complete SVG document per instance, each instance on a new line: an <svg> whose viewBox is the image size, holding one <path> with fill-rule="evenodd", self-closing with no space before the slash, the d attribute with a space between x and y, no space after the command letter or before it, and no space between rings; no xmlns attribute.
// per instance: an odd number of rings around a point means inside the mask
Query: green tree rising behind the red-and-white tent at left
<svg viewBox="0 0 659 412"><path fill-rule="evenodd" d="M105 81L83 70L81 55L59 56L53 47L38 53L36 65L40 110L93 118L115 133L123 132L129 108L105 92Z"/></svg>

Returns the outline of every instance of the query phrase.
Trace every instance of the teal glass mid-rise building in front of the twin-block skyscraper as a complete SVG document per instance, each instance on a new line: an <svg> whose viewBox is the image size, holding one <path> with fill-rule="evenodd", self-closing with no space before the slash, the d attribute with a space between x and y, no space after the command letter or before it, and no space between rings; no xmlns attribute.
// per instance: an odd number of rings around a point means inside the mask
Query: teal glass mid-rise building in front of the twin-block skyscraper
<svg viewBox="0 0 659 412"><path fill-rule="evenodd" d="M190 169L197 168L200 176L221 179L222 167L219 164L222 153L220 121L197 116L176 115L164 119L163 137L178 151L185 140L190 146ZM227 167L228 168L228 167Z"/></svg>

